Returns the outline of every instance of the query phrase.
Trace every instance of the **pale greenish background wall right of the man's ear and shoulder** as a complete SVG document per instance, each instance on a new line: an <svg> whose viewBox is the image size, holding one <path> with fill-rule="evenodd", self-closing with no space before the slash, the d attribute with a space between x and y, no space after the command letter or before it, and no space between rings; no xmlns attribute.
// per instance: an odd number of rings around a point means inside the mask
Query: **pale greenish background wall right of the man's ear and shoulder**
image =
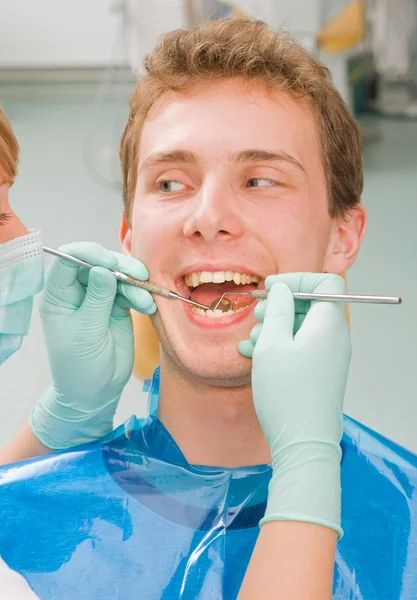
<svg viewBox="0 0 417 600"><path fill-rule="evenodd" d="M365 145L368 231L348 272L351 293L402 296L351 305L346 412L417 452L417 121L381 120Z"/></svg>

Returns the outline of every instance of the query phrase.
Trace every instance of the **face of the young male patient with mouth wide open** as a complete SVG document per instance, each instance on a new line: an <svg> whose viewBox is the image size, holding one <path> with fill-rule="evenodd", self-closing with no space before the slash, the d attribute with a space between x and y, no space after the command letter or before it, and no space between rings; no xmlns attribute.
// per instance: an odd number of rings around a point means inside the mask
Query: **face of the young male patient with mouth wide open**
<svg viewBox="0 0 417 600"><path fill-rule="evenodd" d="M251 361L237 346L257 321L253 299L233 291L276 273L342 273L356 254L355 228L328 213L311 111L238 80L166 93L145 121L138 169L125 248L152 282L205 305L228 291L238 309L211 318L156 296L163 358L194 381L246 385Z"/></svg>

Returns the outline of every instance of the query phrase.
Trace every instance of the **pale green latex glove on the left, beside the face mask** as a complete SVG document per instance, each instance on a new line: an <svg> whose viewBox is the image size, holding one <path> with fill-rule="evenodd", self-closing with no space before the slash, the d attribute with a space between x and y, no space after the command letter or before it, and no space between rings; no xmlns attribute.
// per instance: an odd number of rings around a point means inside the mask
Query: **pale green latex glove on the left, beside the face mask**
<svg viewBox="0 0 417 600"><path fill-rule="evenodd" d="M146 280L141 262L91 242L61 250L99 266L90 270L53 259L40 299L52 386L30 421L38 439L52 449L91 442L112 430L133 369L130 308L144 314L156 310L148 292L118 282L108 270Z"/></svg>

